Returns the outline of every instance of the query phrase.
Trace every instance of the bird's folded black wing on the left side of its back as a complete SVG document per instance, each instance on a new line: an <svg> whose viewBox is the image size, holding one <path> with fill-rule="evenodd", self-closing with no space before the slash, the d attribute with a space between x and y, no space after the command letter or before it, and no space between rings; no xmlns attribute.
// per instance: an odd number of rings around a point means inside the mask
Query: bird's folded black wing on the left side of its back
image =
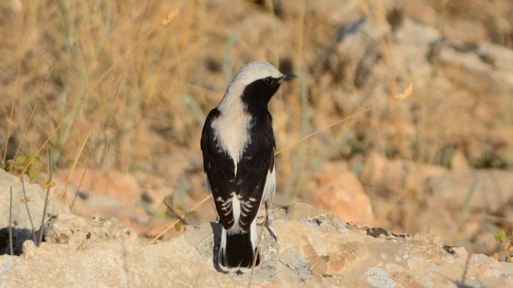
<svg viewBox="0 0 513 288"><path fill-rule="evenodd" d="M212 121L220 112L214 108L208 113L201 135L203 169L207 174L210 191L214 197L215 208L225 229L233 225L233 213L230 194L235 191L235 166L233 159L221 148L215 138Z"/></svg>

